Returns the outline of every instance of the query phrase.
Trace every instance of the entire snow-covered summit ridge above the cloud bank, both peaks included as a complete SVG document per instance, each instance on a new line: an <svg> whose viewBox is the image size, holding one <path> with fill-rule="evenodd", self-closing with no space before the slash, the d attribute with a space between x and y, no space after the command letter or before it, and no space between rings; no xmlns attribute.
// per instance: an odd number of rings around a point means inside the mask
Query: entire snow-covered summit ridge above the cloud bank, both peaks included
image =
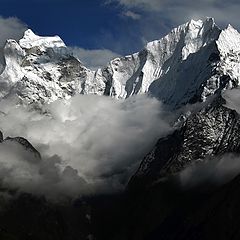
<svg viewBox="0 0 240 240"><path fill-rule="evenodd" d="M223 74L230 78L227 87L239 79L238 42L239 33L230 26L220 30L212 18L191 20L142 51L93 71L74 58L58 36L41 37L27 30L18 43L9 40L5 46L1 96L45 103L77 93L117 99L148 93L176 108L205 101L218 90ZM231 51L234 71L229 71Z"/></svg>

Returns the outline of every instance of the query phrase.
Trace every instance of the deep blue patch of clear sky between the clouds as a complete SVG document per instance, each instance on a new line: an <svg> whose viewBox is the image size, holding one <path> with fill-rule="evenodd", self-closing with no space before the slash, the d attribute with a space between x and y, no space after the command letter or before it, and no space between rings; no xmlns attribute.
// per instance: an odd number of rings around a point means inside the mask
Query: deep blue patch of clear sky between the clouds
<svg viewBox="0 0 240 240"><path fill-rule="evenodd" d="M102 0L10 0L0 15L15 16L39 35L59 35L67 45L126 54L141 47L138 24Z"/></svg>

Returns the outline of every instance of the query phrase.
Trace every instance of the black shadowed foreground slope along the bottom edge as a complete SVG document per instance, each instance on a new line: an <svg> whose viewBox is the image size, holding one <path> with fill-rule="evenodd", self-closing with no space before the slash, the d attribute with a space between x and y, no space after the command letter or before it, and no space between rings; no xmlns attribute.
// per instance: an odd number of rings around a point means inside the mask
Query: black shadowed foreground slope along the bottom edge
<svg viewBox="0 0 240 240"><path fill-rule="evenodd" d="M239 239L239 186L237 176L221 187L184 191L173 179L65 204L22 194L1 201L0 239Z"/></svg>

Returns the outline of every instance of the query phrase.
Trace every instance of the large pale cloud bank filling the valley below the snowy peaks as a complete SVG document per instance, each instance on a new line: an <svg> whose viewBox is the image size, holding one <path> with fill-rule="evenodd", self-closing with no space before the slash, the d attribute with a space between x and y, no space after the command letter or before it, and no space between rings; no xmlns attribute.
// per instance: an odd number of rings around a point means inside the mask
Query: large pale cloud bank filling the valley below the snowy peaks
<svg viewBox="0 0 240 240"><path fill-rule="evenodd" d="M42 154L32 160L2 145L2 182L47 197L123 189L156 140L171 131L161 103L146 96L80 95L46 105L45 114L3 101L0 110L5 135L25 137Z"/></svg>

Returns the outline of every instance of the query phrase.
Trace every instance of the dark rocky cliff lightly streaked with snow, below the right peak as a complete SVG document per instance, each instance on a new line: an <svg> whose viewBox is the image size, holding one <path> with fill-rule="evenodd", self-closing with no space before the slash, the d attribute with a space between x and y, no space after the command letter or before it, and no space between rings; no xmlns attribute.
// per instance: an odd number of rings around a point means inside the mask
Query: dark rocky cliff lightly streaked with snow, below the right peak
<svg viewBox="0 0 240 240"><path fill-rule="evenodd" d="M130 181L157 181L207 157L240 151L240 116L219 96L190 115L171 135L158 140ZM143 180L145 179L145 180Z"/></svg>

